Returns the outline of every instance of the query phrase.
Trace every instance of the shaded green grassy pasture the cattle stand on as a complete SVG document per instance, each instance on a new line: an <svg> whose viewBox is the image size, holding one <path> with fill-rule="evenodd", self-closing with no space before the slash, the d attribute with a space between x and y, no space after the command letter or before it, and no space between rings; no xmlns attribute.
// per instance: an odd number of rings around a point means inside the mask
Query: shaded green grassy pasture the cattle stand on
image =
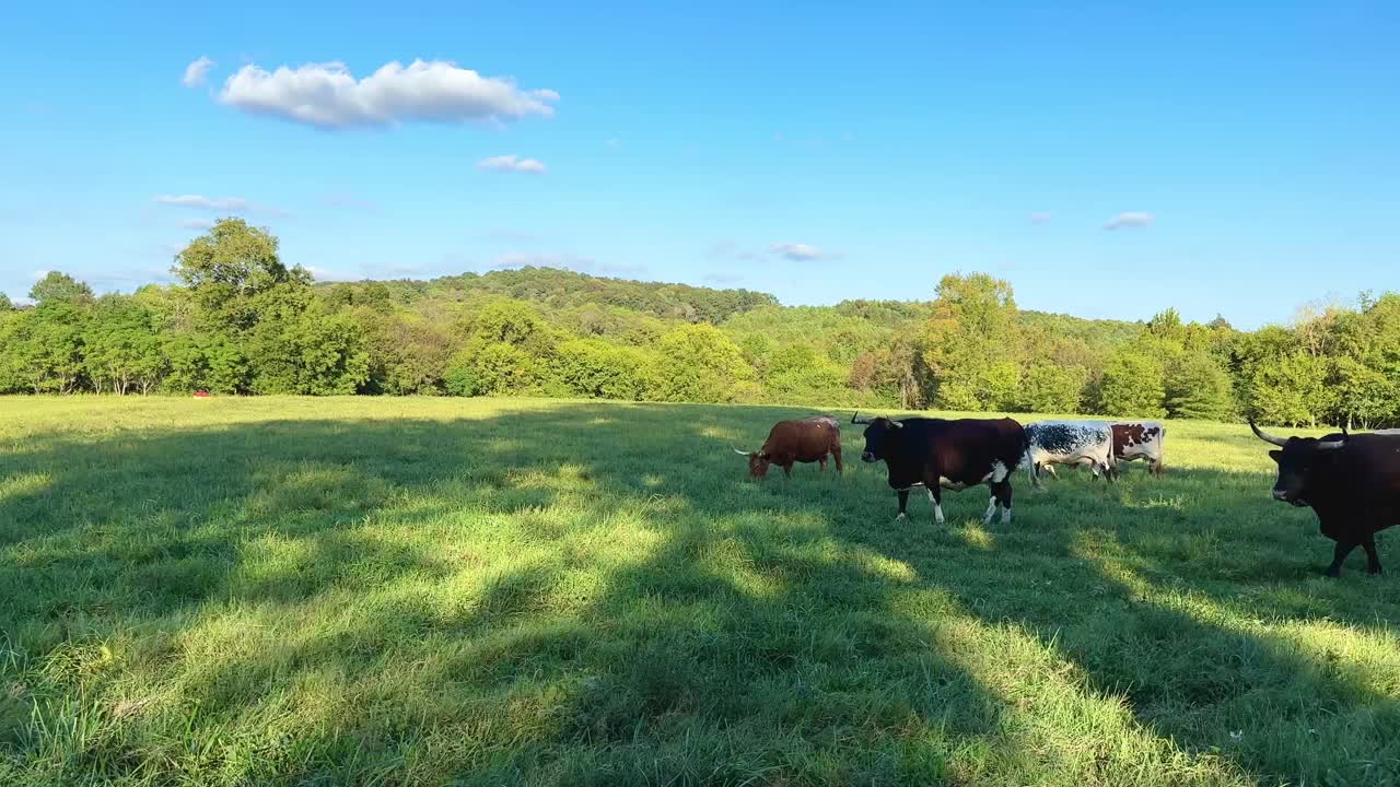
<svg viewBox="0 0 1400 787"><path fill-rule="evenodd" d="M802 412L0 399L0 784L1400 780L1396 581L1245 427L934 527L860 427L749 483Z"/></svg>

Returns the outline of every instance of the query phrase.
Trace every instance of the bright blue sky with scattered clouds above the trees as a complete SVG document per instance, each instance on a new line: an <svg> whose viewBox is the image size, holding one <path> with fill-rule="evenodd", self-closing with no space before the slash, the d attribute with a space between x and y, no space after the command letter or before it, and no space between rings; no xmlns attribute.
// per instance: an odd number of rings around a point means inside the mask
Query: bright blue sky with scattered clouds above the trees
<svg viewBox="0 0 1400 787"><path fill-rule="evenodd" d="M165 279L228 213L321 277L986 270L1240 326L1400 290L1393 1L294 6L7 8L0 291Z"/></svg>

